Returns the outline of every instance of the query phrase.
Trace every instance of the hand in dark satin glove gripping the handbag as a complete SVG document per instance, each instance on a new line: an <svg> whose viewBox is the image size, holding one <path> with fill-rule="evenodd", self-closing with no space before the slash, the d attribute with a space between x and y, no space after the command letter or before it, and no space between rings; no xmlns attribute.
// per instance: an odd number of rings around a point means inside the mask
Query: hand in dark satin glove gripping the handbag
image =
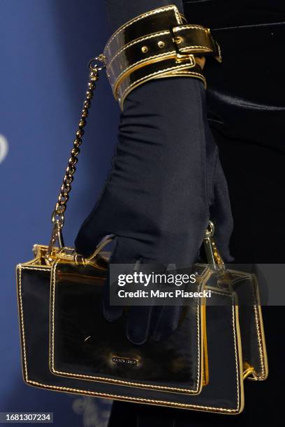
<svg viewBox="0 0 285 427"><path fill-rule="evenodd" d="M139 260L189 267L198 257L209 219L229 262L231 207L207 124L203 84L189 77L147 82L124 102L112 168L75 248L91 255L106 234L115 234L112 263ZM105 317L114 321L122 309L105 304ZM136 306L129 311L129 340L141 344L149 336L168 336L177 328L181 310Z"/></svg>

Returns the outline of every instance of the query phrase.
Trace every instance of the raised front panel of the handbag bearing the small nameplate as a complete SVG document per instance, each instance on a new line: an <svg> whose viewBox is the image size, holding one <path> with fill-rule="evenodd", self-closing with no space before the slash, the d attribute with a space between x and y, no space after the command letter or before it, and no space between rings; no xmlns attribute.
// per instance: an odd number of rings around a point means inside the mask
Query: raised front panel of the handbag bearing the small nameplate
<svg viewBox="0 0 285 427"><path fill-rule="evenodd" d="M57 262L52 267L51 370L61 375L197 394L203 379L203 318L200 299L184 307L177 330L159 343L134 345L126 338L125 312L103 316L105 271ZM200 291L202 282L189 284Z"/></svg>

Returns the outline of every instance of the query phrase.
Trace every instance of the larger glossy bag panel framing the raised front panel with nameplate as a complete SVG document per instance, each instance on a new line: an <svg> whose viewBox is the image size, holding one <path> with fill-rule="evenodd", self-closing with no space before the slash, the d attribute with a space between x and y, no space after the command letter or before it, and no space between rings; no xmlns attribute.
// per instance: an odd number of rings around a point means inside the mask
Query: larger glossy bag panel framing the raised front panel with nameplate
<svg viewBox="0 0 285 427"><path fill-rule="evenodd" d="M233 297L230 294L218 290L212 294L217 306L207 308L210 382L203 387L200 394L191 396L52 374L49 368L50 269L20 264L17 267L17 292L23 377L27 384L150 405L228 414L237 414L242 410L244 403L240 330Z"/></svg>

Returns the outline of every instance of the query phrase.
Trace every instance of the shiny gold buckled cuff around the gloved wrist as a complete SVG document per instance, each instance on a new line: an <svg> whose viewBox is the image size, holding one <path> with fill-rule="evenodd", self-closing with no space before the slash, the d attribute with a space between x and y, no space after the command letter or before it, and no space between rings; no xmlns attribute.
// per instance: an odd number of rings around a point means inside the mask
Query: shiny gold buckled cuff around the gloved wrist
<svg viewBox="0 0 285 427"><path fill-rule="evenodd" d="M195 77L203 81L205 56L221 62L219 45L210 29L187 24L176 6L149 10L126 22L103 51L115 99L123 108L133 89L163 77Z"/></svg>

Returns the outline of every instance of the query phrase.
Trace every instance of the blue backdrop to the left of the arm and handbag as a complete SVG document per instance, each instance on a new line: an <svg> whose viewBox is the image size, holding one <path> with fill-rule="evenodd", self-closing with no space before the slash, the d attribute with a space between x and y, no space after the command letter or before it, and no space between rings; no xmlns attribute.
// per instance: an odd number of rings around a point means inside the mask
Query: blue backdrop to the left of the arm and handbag
<svg viewBox="0 0 285 427"><path fill-rule="evenodd" d="M55 426L104 426L110 401L22 381L15 265L48 244L50 214L71 150L87 63L110 36L103 0L0 0L1 183L0 411L51 411ZM102 73L68 203L65 243L92 209L110 167L119 107ZM2 144L3 153L3 144Z"/></svg>

